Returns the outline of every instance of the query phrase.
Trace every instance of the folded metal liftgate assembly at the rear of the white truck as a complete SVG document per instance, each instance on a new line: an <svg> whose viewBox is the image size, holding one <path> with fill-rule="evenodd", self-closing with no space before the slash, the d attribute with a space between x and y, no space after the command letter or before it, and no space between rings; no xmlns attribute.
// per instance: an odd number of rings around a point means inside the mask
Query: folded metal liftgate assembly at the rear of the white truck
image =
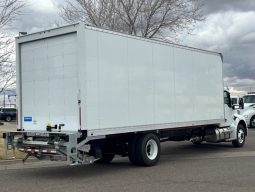
<svg viewBox="0 0 255 192"><path fill-rule="evenodd" d="M91 154L90 141L102 140L105 136L87 137L82 132L16 131L4 133L6 149L18 149L27 157L52 161L67 161L69 164L89 164L96 159Z"/></svg>

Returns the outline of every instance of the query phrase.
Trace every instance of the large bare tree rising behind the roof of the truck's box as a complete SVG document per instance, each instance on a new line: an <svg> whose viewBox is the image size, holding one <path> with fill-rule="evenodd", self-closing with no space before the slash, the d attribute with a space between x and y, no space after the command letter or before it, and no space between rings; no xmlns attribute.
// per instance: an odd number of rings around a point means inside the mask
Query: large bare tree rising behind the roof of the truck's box
<svg viewBox="0 0 255 192"><path fill-rule="evenodd" d="M203 20L200 0L66 0L60 16L146 38L170 37Z"/></svg>

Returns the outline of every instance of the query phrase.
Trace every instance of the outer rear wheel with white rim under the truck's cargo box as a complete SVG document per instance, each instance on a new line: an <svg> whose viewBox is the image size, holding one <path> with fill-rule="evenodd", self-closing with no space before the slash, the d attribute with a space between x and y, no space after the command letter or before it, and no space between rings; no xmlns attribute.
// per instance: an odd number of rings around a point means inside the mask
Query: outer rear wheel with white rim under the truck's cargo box
<svg viewBox="0 0 255 192"><path fill-rule="evenodd" d="M153 166L156 165L160 158L160 141L152 133L142 135L136 143L136 160L139 165Z"/></svg>

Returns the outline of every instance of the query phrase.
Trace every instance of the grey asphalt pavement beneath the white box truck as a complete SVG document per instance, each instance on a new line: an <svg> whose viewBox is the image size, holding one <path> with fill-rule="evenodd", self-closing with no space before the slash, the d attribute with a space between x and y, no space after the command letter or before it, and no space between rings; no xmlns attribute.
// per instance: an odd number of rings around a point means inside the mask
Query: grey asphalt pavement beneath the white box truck
<svg viewBox="0 0 255 192"><path fill-rule="evenodd" d="M243 148L231 143L163 143L154 167L136 167L118 157L109 165L74 167L45 161L0 163L0 191L254 192L255 130L249 130Z"/></svg>

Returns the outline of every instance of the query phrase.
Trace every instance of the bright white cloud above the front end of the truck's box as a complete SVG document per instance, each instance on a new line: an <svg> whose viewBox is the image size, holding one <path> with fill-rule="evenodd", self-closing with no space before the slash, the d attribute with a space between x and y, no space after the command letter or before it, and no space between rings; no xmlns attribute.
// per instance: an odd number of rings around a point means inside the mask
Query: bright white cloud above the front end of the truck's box
<svg viewBox="0 0 255 192"><path fill-rule="evenodd" d="M193 32L196 35L186 37L184 42L213 51L225 50L233 44L254 38L253 21L255 21L254 11L215 13L209 15L205 22L196 27Z"/></svg>

